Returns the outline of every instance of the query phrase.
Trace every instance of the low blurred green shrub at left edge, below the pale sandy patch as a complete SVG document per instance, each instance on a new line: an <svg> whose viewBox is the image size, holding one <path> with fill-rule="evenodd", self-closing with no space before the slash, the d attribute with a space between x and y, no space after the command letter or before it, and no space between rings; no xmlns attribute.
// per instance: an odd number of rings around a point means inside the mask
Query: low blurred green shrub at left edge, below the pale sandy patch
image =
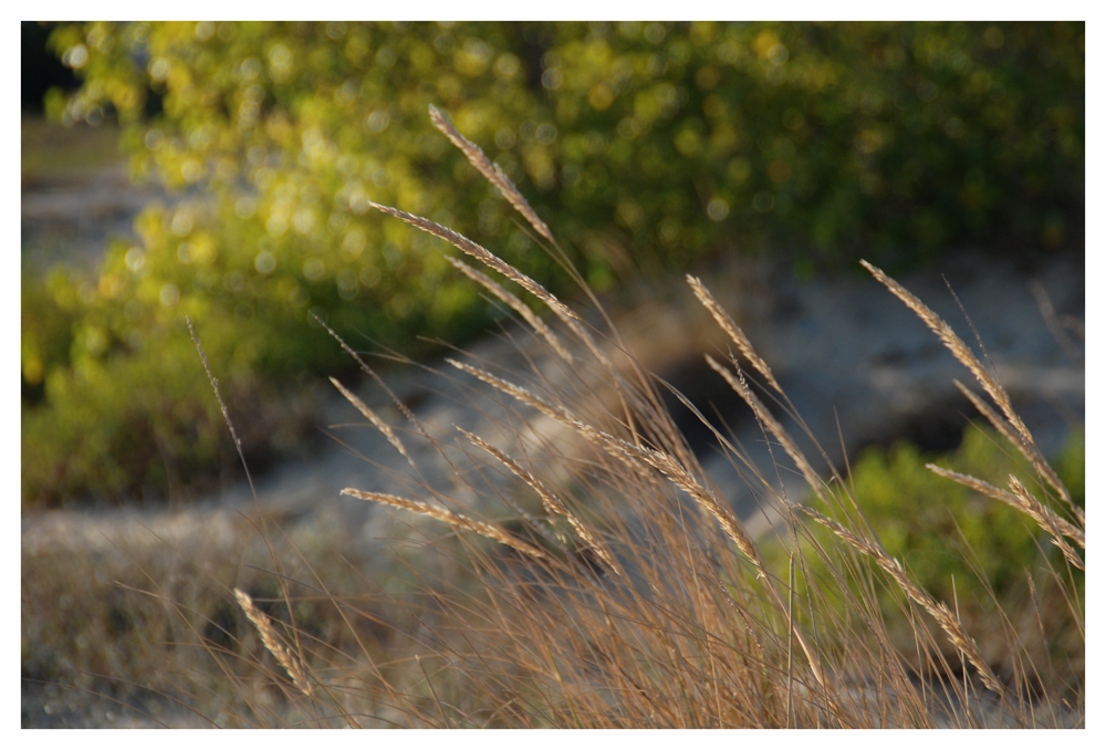
<svg viewBox="0 0 1106 750"><path fill-rule="evenodd" d="M210 488L220 470L237 465L181 313L200 321L248 456L260 463L310 434L306 384L278 388L259 374L261 338L270 332L201 299L169 310L157 299L112 293L112 283L128 282L105 270L96 293L61 270L46 284L24 279L24 503L177 499ZM116 295L131 299L124 304Z"/></svg>

